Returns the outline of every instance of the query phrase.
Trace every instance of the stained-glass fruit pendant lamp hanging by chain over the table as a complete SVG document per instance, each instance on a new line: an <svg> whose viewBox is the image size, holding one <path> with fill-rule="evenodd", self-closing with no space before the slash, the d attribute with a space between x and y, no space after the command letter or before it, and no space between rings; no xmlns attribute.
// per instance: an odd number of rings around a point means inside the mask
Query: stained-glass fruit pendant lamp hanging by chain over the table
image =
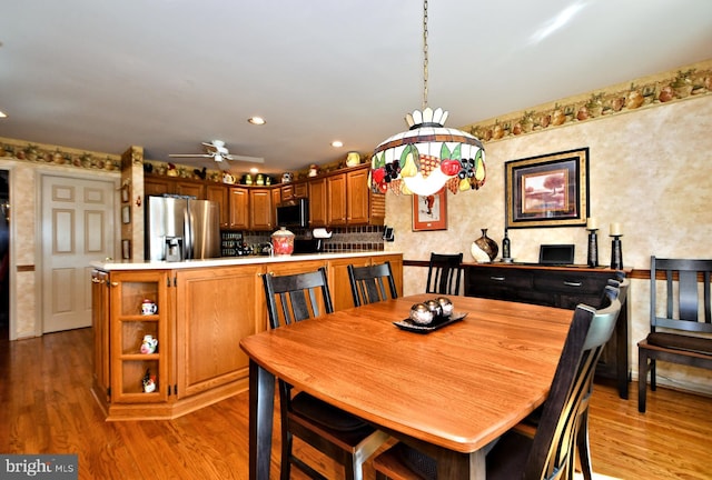
<svg viewBox="0 0 712 480"><path fill-rule="evenodd" d="M406 114L408 130L389 137L374 150L374 191L428 197L443 187L453 193L477 190L485 182L485 151L474 136L445 128L447 112L427 106L427 0L423 2L423 110Z"/></svg>

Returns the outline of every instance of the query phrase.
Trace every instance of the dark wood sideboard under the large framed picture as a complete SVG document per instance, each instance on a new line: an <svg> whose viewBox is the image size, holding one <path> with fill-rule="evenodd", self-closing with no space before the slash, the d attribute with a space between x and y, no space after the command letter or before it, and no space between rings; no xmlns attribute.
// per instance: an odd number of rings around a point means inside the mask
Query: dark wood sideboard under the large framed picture
<svg viewBox="0 0 712 480"><path fill-rule="evenodd" d="M597 308L609 279L615 278L615 271L609 268L516 263L463 263L463 267L466 296L571 310L578 303ZM629 270L625 272L630 276ZM626 302L596 367L596 378L614 379L623 399L627 399L631 377L627 312Z"/></svg>

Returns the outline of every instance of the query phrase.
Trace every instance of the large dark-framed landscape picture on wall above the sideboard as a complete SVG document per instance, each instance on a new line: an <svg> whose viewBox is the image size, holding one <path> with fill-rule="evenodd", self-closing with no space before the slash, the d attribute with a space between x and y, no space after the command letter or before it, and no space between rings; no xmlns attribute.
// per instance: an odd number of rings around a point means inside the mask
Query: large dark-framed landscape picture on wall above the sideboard
<svg viewBox="0 0 712 480"><path fill-rule="evenodd" d="M589 148L505 162L506 228L585 227Z"/></svg>

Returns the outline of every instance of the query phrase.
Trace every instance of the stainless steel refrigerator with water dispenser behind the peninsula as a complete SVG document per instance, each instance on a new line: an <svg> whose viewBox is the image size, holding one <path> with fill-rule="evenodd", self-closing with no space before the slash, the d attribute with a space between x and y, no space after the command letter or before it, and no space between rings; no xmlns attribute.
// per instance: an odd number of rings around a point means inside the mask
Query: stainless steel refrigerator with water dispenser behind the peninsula
<svg viewBox="0 0 712 480"><path fill-rule="evenodd" d="M186 196L146 198L146 260L220 257L220 206Z"/></svg>

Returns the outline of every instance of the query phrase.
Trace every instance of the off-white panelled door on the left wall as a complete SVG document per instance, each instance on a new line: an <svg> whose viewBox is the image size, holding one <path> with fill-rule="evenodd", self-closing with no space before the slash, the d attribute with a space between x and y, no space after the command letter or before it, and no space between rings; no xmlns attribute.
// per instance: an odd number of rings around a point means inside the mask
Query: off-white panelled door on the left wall
<svg viewBox="0 0 712 480"><path fill-rule="evenodd" d="M115 182L42 177L42 332L91 326L92 260L113 257Z"/></svg>

